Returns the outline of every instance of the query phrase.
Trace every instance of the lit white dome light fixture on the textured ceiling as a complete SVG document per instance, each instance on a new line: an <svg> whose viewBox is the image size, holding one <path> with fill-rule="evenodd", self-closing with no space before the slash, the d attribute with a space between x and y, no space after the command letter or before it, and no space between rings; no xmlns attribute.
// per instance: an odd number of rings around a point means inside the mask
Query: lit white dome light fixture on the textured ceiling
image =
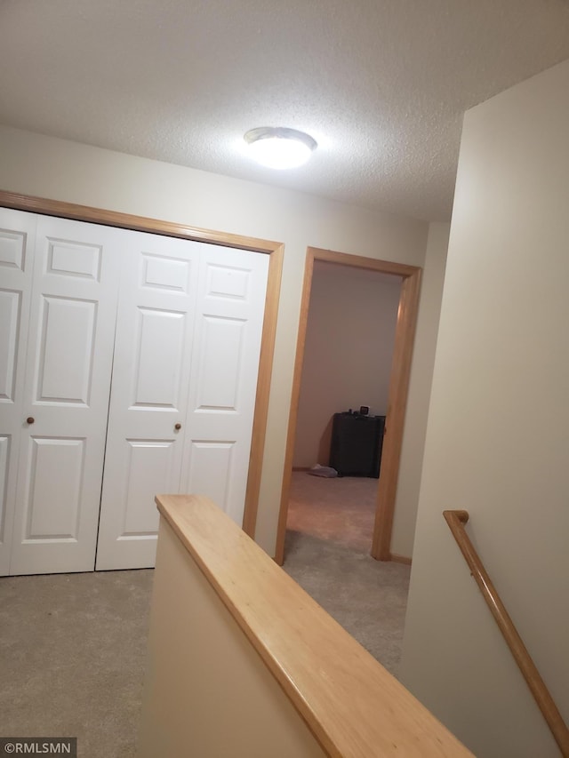
<svg viewBox="0 0 569 758"><path fill-rule="evenodd" d="M284 126L258 126L245 132L249 152L258 163L270 169L293 169L306 164L317 141L309 134Z"/></svg>

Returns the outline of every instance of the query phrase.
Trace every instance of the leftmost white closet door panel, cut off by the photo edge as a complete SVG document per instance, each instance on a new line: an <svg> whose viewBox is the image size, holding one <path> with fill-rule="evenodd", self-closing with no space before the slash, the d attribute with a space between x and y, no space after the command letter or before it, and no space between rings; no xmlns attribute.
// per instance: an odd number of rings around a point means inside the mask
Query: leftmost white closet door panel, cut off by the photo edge
<svg viewBox="0 0 569 758"><path fill-rule="evenodd" d="M0 575L10 570L36 216L0 209Z"/></svg>

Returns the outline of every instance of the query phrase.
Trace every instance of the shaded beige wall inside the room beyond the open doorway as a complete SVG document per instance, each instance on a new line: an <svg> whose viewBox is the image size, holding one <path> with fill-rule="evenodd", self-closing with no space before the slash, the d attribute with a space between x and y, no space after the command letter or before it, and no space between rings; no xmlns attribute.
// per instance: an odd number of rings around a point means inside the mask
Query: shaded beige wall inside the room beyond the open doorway
<svg viewBox="0 0 569 758"><path fill-rule="evenodd" d="M399 276L315 261L293 466L328 464L334 413L386 414L400 292Z"/></svg>

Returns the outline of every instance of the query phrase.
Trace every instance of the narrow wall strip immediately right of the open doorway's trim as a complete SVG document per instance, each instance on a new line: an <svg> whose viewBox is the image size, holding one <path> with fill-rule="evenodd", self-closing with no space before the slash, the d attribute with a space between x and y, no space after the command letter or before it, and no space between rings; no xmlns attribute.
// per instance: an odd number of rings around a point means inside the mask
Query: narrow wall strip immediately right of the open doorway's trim
<svg viewBox="0 0 569 758"><path fill-rule="evenodd" d="M391 536L391 552L408 558L413 555L421 464L427 431L427 412L435 363L449 232L450 224L437 222L429 226L427 254L421 283L419 319L413 347L411 382Z"/></svg>

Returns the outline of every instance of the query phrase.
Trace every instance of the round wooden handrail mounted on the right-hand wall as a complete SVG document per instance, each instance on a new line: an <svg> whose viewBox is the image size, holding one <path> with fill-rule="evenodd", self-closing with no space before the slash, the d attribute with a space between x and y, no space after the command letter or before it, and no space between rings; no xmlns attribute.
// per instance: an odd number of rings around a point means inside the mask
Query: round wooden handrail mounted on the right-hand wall
<svg viewBox="0 0 569 758"><path fill-rule="evenodd" d="M496 592L496 588L493 586L488 572L485 570L475 547L472 545L469 535L466 533L464 525L469 521L469 512L461 510L443 511L443 515L450 530L453 532L454 539L456 539L458 546L461 548L462 555L464 555L466 562L469 564L472 576L480 587L480 591L484 595L485 601L500 627L504 639L508 642L509 650L511 650L512 655L516 659L517 666L519 666L520 671L524 675L525 682L527 682L527 686L530 688L535 702L548 723L549 729L561 749L561 753L564 758L569 758L569 730L553 698L549 694L545 682L541 679L541 674L533 663L532 657L525 648L522 638L517 634L516 626L514 626L512 619L509 618L509 613L504 603L501 602L500 595Z"/></svg>

